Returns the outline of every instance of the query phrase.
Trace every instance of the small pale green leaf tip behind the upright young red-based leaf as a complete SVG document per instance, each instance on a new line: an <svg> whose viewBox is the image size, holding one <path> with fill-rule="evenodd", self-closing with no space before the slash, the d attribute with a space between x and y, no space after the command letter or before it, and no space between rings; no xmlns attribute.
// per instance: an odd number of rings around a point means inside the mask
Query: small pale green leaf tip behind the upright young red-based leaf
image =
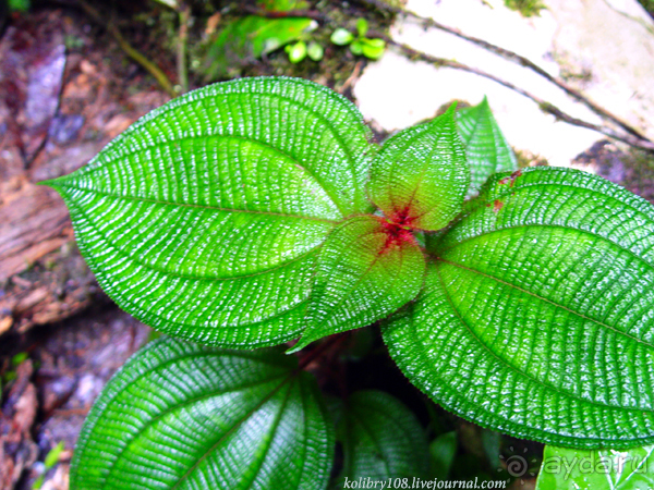
<svg viewBox="0 0 654 490"><path fill-rule="evenodd" d="M501 134L485 97L479 106L457 112L457 126L471 171L469 196L477 194L494 173L518 170L516 155Z"/></svg>

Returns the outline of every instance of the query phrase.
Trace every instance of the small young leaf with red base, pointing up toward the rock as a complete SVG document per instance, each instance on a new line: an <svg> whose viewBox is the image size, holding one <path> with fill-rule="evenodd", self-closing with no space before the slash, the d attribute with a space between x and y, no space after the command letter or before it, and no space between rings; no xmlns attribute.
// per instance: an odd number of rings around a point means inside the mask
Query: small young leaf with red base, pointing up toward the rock
<svg viewBox="0 0 654 490"><path fill-rule="evenodd" d="M391 136L377 154L368 193L390 220L439 230L461 210L470 169L453 118L455 106Z"/></svg>

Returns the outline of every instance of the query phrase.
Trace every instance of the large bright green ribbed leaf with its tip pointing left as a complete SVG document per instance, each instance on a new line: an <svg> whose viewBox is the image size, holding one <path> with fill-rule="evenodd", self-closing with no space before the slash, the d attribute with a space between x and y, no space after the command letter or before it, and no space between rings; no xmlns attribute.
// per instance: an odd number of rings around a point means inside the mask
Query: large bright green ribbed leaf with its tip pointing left
<svg viewBox="0 0 654 490"><path fill-rule="evenodd" d="M316 250L368 212L356 108L298 78L211 85L48 182L105 291L175 336L233 347L302 331Z"/></svg>

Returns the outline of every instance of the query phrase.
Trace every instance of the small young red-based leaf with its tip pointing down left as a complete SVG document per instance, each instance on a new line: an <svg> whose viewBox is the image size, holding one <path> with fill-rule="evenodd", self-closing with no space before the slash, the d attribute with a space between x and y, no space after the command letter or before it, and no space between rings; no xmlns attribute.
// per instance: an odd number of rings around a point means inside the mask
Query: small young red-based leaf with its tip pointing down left
<svg viewBox="0 0 654 490"><path fill-rule="evenodd" d="M323 245L306 329L292 352L390 315L417 295L424 273L411 232L375 216L350 218Z"/></svg>

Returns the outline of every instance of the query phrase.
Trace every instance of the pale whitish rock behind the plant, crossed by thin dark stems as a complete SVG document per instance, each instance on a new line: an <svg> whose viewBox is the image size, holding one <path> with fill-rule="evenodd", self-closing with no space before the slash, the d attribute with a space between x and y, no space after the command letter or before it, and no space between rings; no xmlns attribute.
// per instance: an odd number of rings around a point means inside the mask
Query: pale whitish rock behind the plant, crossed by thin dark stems
<svg viewBox="0 0 654 490"><path fill-rule="evenodd" d="M611 7L615 3L622 3L622 10ZM654 79L654 30L642 8L635 0L550 0L546 4L541 16L529 19L508 10L501 0L410 0L407 9L526 57L550 75L566 76L568 83L595 102L654 137L654 127L646 127L646 121L654 120L654 93L647 90ZM632 19L639 9L643 15ZM585 20L588 15L593 22ZM594 124L602 122L585 106L531 70L451 34L425 29L412 17L398 19L391 37L432 56L507 79L574 118ZM614 42L621 46L621 56ZM638 54L632 57L631 52ZM474 105L487 95L509 143L555 166L570 164L577 155L604 138L594 131L556 121L531 99L496 82L411 61L393 49L368 64L353 94L364 117L385 131L432 118L453 99Z"/></svg>

